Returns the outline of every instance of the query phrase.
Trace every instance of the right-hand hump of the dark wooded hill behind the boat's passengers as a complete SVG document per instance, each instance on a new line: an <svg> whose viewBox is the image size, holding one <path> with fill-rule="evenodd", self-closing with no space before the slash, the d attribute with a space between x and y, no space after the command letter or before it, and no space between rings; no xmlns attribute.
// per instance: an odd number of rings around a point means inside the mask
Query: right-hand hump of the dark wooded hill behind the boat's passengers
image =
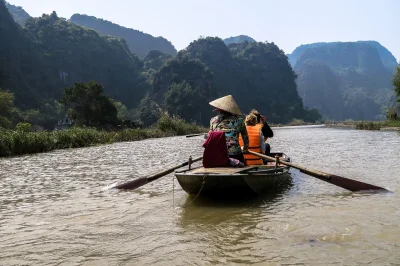
<svg viewBox="0 0 400 266"><path fill-rule="evenodd" d="M230 50L239 65L235 74L241 86L237 91L245 112L256 108L272 122L288 122L292 118L308 120L297 93L296 74L278 46L244 42L230 45Z"/></svg>

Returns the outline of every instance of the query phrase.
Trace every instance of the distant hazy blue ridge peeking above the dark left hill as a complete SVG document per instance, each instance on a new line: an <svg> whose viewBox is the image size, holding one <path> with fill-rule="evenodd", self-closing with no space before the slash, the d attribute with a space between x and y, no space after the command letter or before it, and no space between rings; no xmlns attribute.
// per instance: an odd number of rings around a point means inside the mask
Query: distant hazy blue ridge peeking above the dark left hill
<svg viewBox="0 0 400 266"><path fill-rule="evenodd" d="M74 14L70 18L70 21L94 29L102 35L124 38L131 52L136 54L139 58L144 58L150 50L159 50L162 53L172 56L175 56L177 53L171 42L163 37L153 37L150 34L125 28L107 20L98 19L93 16Z"/></svg>

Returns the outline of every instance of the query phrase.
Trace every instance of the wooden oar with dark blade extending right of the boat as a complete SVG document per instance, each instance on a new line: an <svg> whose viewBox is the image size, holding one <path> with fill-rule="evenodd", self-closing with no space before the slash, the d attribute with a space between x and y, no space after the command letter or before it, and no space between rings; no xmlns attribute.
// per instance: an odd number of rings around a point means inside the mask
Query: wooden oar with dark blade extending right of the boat
<svg viewBox="0 0 400 266"><path fill-rule="evenodd" d="M363 183L357 180L353 180L353 179L349 179L349 178L345 178L342 176L338 176L338 175L333 175L333 174L328 174L328 173L324 173L321 171L317 171L317 170L313 170L310 168L305 168L296 164L292 164L289 162L285 162L283 160L279 160L278 158L275 159L274 157L270 157L270 156L266 156L264 154L261 153L257 153L257 152L253 152L253 151L249 151L249 153L256 155L258 157L270 160L270 161L276 161L278 160L278 163L280 164L284 164L284 165L288 165L290 167L296 168L298 170L300 170L300 172L305 173L307 175L316 177L322 181L331 183L333 185L339 186L341 188L350 190L350 191L361 191L361 190L384 190L384 191L388 191L385 188L382 187L378 187L378 186L374 186L371 184L367 184L367 183Z"/></svg>

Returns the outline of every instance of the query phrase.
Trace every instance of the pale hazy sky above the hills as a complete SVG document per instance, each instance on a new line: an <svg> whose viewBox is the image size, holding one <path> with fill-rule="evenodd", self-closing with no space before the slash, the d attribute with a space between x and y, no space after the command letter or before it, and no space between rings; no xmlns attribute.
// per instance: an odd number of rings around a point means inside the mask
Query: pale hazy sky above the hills
<svg viewBox="0 0 400 266"><path fill-rule="evenodd" d="M183 49L201 35L249 35L286 53L312 42L376 40L400 60L400 0L7 0L31 16L87 14Z"/></svg>

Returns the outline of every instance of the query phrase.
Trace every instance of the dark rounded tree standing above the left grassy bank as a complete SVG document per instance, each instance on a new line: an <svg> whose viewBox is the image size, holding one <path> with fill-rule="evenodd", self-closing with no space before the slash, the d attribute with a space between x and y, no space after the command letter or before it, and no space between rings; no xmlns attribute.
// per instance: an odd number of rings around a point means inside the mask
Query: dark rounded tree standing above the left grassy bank
<svg viewBox="0 0 400 266"><path fill-rule="evenodd" d="M95 81L76 82L64 90L60 102L65 104L68 116L76 125L102 127L116 126L120 122L113 100L103 94L103 87Z"/></svg>

